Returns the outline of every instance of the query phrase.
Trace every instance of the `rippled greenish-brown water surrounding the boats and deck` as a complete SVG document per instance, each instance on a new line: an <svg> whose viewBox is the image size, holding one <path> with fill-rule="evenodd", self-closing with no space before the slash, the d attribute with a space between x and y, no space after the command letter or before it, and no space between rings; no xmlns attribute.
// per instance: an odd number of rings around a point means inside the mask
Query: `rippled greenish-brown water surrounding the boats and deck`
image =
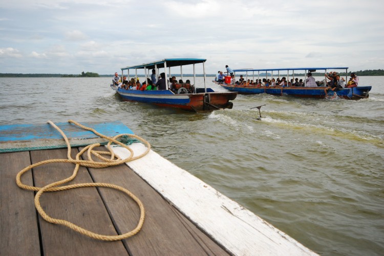
<svg viewBox="0 0 384 256"><path fill-rule="evenodd" d="M383 255L383 79L360 77L373 88L359 101L239 95L233 109L189 113L122 102L111 78L0 78L0 124L120 120L315 252ZM263 104L258 121L250 108Z"/></svg>

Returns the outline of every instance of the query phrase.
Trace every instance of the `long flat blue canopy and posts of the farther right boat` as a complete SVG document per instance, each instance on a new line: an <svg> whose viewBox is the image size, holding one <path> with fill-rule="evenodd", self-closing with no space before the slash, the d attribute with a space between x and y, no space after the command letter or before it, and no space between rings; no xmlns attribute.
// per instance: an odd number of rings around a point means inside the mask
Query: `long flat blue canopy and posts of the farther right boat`
<svg viewBox="0 0 384 256"><path fill-rule="evenodd" d="M346 81L348 80L348 68L349 67L287 67L287 68L262 68L262 69L254 69L254 68L242 68L242 69L233 69L234 75L236 76L236 72L246 72L246 81L248 81L248 72L252 72L253 80L254 80L254 72L258 72L258 80L260 79L260 71L266 73L266 79L268 79L268 71L271 72L271 79L273 78L273 71L278 72L278 77L280 78L280 71L287 71L287 81L289 81L289 71L292 71L292 77L294 79L294 72L297 70L305 71L305 75L307 72L315 72L316 70L324 70L324 74L327 74L328 69L345 69L346 71ZM306 84L306 80L304 79L304 84ZM324 78L324 84L327 84L327 78Z"/></svg>

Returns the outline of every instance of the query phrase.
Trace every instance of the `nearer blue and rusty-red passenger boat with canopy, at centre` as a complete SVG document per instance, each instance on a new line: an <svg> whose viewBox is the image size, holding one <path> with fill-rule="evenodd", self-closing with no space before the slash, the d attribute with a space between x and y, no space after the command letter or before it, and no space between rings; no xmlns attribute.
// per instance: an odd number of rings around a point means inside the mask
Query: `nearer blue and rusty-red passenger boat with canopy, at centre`
<svg viewBox="0 0 384 256"><path fill-rule="evenodd" d="M233 103L230 100L234 100L237 96L237 92L215 92L211 88L207 88L205 85L205 71L204 63L206 59L163 59L145 64L139 64L134 66L127 66L121 68L121 77L124 76L124 71L127 71L127 80L130 79L130 71L134 70L134 77L137 78L138 69L144 70L145 81L150 77L150 71L155 69L156 77L160 74L160 68L165 73L165 80L169 81L170 67L180 66L180 74L182 77L182 66L193 65L194 77L193 84L196 80L195 64L203 64L204 73L204 88L195 88L191 84L176 84L176 90L170 90L170 85L166 83L165 90L131 90L120 88L111 84L112 89L116 90L124 101L137 101L144 103L152 103L158 106L164 107L176 107L188 111L209 111L215 109L232 108ZM167 67L169 71L167 73ZM169 74L169 77L168 75Z"/></svg>

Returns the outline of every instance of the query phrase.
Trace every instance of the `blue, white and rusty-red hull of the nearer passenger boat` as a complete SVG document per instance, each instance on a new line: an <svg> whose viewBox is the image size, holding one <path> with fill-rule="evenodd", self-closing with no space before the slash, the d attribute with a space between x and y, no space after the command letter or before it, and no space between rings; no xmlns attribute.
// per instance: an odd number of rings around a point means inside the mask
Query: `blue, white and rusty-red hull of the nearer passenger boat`
<svg viewBox="0 0 384 256"><path fill-rule="evenodd" d="M237 96L237 92L215 92L210 88L207 88L207 92L197 94L174 94L170 90L125 90L115 85L111 87L124 101L151 103L195 112L232 108L233 104L229 101Z"/></svg>

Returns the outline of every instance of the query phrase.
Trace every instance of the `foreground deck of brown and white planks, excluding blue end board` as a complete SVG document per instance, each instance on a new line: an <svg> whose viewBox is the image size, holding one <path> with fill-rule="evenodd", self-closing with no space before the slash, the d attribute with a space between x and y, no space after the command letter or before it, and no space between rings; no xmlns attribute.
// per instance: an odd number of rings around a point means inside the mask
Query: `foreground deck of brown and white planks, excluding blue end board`
<svg viewBox="0 0 384 256"><path fill-rule="evenodd" d="M135 153L144 148L140 143L131 146ZM72 149L73 158L79 150ZM127 154L121 147L115 151L120 157ZM144 224L133 237L106 242L83 236L42 219L35 209L35 192L16 185L20 170L56 158L67 158L67 149L0 154L0 255L316 255L152 150L127 165L80 167L70 183L116 184L130 190L145 207ZM43 165L22 180L43 187L71 176L73 168L73 164ZM107 188L45 193L40 203L50 216L102 235L128 232L140 216L135 201Z"/></svg>

